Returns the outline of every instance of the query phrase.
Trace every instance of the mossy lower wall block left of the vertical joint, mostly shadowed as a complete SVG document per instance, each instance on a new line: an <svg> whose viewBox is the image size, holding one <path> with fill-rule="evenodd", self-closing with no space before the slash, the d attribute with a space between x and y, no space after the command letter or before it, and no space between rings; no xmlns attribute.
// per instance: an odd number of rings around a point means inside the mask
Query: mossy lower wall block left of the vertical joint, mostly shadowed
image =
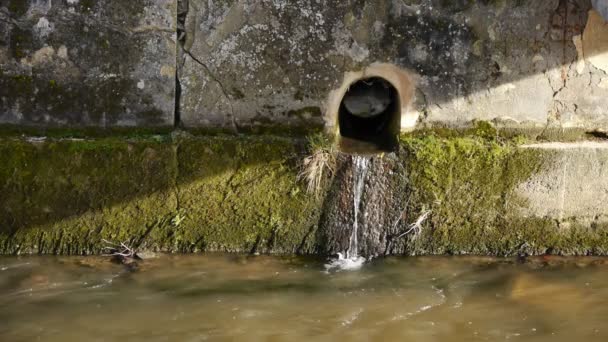
<svg viewBox="0 0 608 342"><path fill-rule="evenodd" d="M0 252L99 252L175 211L169 144L0 141Z"/></svg>

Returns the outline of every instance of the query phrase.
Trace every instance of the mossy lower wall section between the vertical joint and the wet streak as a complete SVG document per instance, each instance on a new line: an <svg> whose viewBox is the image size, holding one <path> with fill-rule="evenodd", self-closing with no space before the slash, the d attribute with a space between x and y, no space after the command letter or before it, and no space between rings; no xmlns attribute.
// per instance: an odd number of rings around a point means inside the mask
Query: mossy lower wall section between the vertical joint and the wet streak
<svg viewBox="0 0 608 342"><path fill-rule="evenodd" d="M180 250L312 250L301 246L316 225L319 203L297 182L292 140L196 138L180 143L178 160L188 217L178 233Z"/></svg>

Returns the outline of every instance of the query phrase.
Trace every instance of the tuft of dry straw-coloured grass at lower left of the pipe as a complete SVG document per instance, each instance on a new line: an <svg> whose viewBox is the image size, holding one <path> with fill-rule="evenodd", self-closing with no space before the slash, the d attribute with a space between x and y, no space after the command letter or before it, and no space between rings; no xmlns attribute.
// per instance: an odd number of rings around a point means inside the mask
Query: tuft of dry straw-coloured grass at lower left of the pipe
<svg viewBox="0 0 608 342"><path fill-rule="evenodd" d="M336 150L324 134L308 137L310 155L304 158L298 178L306 183L306 191L320 196L325 183L336 169Z"/></svg>

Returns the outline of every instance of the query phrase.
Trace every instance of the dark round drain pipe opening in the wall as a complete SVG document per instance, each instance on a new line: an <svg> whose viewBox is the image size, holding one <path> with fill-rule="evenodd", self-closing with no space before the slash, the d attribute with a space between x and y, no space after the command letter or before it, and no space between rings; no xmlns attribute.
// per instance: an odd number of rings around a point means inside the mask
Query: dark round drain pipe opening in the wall
<svg viewBox="0 0 608 342"><path fill-rule="evenodd" d="M359 80L344 94L338 122L343 151L393 151L401 123L399 92L380 77Z"/></svg>

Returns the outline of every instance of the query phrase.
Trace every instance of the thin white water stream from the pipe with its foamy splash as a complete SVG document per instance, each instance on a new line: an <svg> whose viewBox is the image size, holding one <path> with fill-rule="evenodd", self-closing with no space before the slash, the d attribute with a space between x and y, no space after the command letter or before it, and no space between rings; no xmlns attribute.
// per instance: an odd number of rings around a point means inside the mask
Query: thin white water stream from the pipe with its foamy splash
<svg viewBox="0 0 608 342"><path fill-rule="evenodd" d="M359 231L359 207L361 205L361 198L363 197L368 164L368 157L353 156L353 228L350 234L346 257L342 253L338 253L337 259L331 260L325 265L325 269L328 272L358 270L366 261L364 257L359 256L357 235Z"/></svg>

